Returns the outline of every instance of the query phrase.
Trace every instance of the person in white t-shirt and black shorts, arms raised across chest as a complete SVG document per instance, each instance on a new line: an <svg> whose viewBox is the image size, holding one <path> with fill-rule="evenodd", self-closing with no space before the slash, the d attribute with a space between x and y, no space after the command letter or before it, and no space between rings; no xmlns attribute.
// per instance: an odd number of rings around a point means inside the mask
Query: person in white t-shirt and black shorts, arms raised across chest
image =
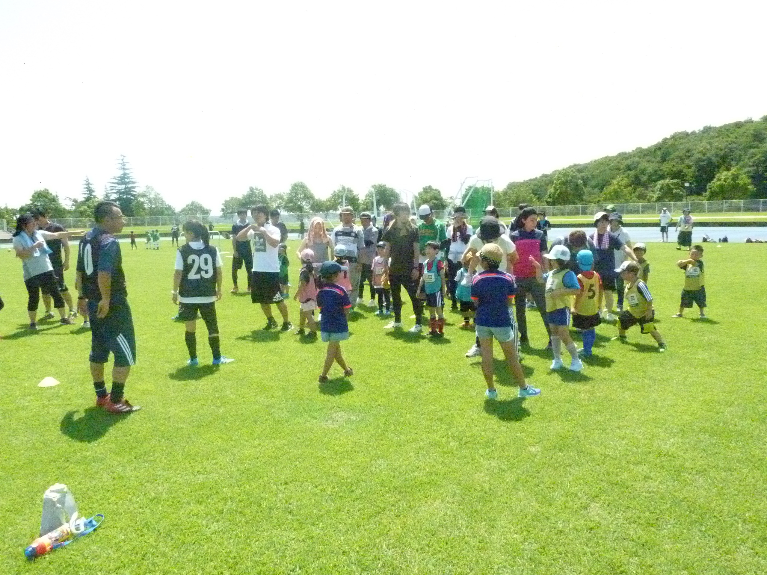
<svg viewBox="0 0 767 575"><path fill-rule="evenodd" d="M272 304L282 316L281 331L290 331L293 324L288 320L288 306L282 299L280 289L280 260L277 246L280 244L280 229L268 222L269 209L265 205L256 205L251 210L253 224L237 234L237 241L249 239L253 248L253 272L250 299L254 304L261 304L267 323L265 330L273 330L277 322L272 315Z"/></svg>

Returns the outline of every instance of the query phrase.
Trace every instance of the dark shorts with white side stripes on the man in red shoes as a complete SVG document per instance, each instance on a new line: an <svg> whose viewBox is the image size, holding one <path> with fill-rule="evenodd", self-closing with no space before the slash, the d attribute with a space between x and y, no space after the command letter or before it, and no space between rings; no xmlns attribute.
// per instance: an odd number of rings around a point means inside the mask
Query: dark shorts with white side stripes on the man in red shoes
<svg viewBox="0 0 767 575"><path fill-rule="evenodd" d="M133 317L124 297L114 297L107 317L97 317L97 301L88 301L88 320L91 321L91 363L107 363L114 353L114 365L136 365L136 334Z"/></svg>

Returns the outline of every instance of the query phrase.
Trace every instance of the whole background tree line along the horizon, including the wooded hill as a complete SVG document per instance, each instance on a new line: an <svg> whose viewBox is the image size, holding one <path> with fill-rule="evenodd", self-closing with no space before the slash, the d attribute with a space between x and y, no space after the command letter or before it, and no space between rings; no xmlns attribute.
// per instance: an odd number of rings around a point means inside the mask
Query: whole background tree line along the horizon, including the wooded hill
<svg viewBox="0 0 767 575"><path fill-rule="evenodd" d="M293 214L335 212L342 205L355 211L378 206L391 208L400 201L396 189L374 184L364 195L348 186L338 186L328 198L318 198L304 182L294 182L287 192L267 195L250 186L239 196L224 200L222 214L265 203ZM494 190L496 207L522 202L532 205L578 205L634 202L680 202L684 200L726 200L767 198L767 116L724 126L706 126L694 132L678 132L647 148L606 156L585 164L543 174L524 182L510 182ZM61 203L54 192L38 189L18 209L0 208L0 219L44 208L52 218L86 218L101 199L120 205L123 213L145 215L210 215L199 202L189 202L176 211L152 186L139 189L125 156L117 162L117 176L97 195L91 180L83 183L80 198ZM433 186L424 186L415 197L416 205L446 209L449 201Z"/></svg>

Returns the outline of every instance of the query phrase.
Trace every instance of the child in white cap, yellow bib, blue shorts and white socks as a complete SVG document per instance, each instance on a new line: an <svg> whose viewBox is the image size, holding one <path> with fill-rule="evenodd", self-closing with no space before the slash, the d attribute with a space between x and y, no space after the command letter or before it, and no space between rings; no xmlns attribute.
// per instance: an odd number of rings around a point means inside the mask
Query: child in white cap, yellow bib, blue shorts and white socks
<svg viewBox="0 0 767 575"><path fill-rule="evenodd" d="M561 343L565 343L570 353L572 371L581 371L583 363L578 359L578 347L570 337L570 307L574 295L581 293L581 286L573 271L568 268L570 250L564 245L555 245L548 254L543 256L550 261L551 271L543 273L543 269L535 258L530 256L530 262L535 266L535 277L546 284L546 323L551 327L551 351L554 361L551 369L558 370L564 364L561 357Z"/></svg>

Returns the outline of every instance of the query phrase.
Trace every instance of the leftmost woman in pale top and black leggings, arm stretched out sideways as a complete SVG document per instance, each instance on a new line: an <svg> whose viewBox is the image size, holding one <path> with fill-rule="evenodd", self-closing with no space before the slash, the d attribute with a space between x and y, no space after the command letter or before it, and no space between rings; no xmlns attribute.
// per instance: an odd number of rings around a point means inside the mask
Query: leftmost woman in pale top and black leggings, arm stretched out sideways
<svg viewBox="0 0 767 575"><path fill-rule="evenodd" d="M51 296L54 307L61 317L61 323L74 324L71 317L67 317L64 310L64 298L58 291L58 283L53 273L53 265L48 258L51 249L45 243L47 239L69 238L71 235L81 234L71 230L70 232L46 232L38 230L38 223L31 214L18 216L16 231L13 234L13 248L16 257L21 258L24 268L24 284L29 294L27 311L29 314L29 329L38 329L38 305L40 304L40 291Z"/></svg>

